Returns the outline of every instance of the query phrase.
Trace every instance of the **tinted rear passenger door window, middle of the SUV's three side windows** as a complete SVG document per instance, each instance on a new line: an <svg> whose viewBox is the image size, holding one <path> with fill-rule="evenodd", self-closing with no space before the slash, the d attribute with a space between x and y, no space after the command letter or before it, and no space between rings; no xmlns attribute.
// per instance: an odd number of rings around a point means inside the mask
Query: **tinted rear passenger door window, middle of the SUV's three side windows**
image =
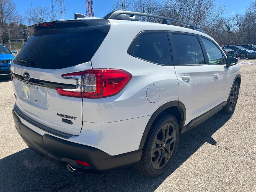
<svg viewBox="0 0 256 192"><path fill-rule="evenodd" d="M183 35L173 33L179 65L205 64L203 51L194 35Z"/></svg>

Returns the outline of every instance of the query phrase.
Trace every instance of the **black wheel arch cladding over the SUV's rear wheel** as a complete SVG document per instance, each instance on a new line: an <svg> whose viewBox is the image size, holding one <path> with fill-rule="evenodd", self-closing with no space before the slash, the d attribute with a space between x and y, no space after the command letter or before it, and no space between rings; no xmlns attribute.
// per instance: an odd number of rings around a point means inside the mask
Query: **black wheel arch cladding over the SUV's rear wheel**
<svg viewBox="0 0 256 192"><path fill-rule="evenodd" d="M149 119L148 124L146 125L144 133L142 135L141 142L139 144L139 149L143 148L146 138L148 136L149 130L152 124L155 122L155 120L158 117L161 117L162 115L166 115L166 114L172 114L177 119L179 123L179 129L181 132L181 128L184 126L185 120L186 120L185 105L180 101L170 101L168 103L165 103L161 107L159 107Z"/></svg>

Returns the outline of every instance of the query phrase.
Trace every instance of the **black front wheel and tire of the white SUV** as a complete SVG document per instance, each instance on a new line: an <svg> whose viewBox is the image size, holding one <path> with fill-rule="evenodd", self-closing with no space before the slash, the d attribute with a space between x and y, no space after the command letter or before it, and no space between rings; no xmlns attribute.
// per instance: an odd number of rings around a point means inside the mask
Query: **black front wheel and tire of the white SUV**
<svg viewBox="0 0 256 192"><path fill-rule="evenodd" d="M235 81L231 89L231 94L229 95L229 98L227 100L227 104L222 108L222 111L224 113L227 113L227 114L234 113L236 109L238 94L239 94L239 84L237 81Z"/></svg>

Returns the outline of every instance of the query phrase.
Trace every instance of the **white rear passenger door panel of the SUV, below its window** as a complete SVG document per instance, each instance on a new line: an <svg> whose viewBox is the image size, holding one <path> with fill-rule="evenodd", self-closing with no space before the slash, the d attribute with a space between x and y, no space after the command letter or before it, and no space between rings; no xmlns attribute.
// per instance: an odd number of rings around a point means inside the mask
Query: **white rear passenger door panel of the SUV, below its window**
<svg viewBox="0 0 256 192"><path fill-rule="evenodd" d="M186 107L186 125L212 108L213 90L209 87L214 86L213 71L209 65L175 66L175 71L179 81L179 101ZM185 82L182 76L190 76L191 79Z"/></svg>

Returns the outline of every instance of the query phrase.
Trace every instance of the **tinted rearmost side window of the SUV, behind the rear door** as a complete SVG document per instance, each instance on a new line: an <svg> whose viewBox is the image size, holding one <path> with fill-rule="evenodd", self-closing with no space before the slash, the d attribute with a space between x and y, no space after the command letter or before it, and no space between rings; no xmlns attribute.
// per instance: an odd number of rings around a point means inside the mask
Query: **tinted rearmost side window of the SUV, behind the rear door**
<svg viewBox="0 0 256 192"><path fill-rule="evenodd" d="M171 65L172 56L167 33L150 32L138 36L127 53L149 62Z"/></svg>

